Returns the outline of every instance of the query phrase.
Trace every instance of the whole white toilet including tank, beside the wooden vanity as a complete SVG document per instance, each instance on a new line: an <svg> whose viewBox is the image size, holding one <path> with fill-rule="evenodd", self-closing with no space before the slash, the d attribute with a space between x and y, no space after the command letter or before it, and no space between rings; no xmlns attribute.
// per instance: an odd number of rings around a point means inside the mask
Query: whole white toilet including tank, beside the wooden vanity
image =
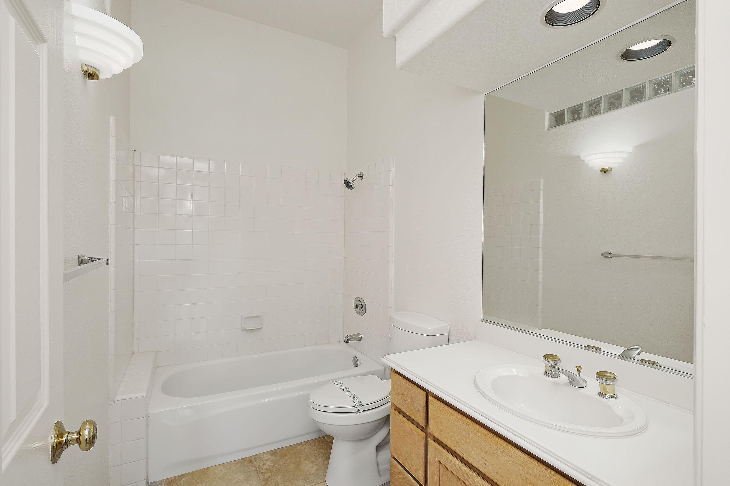
<svg viewBox="0 0 730 486"><path fill-rule="evenodd" d="M448 344L449 325L415 312L391 314L390 353ZM310 417L334 437L327 486L390 481L391 380L375 375L333 380L310 394Z"/></svg>

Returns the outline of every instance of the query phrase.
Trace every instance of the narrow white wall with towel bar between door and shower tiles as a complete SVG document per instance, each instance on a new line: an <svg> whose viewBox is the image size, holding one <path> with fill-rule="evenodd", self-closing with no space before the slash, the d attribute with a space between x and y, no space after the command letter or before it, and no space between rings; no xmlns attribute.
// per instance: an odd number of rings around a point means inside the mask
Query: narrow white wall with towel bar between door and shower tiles
<svg viewBox="0 0 730 486"><path fill-rule="evenodd" d="M69 7L69 1L64 1ZM112 15L128 23L129 0L115 0ZM64 46L64 265L77 255L110 256L110 115L129 124L129 72L90 82L83 77L71 19L66 14ZM64 284L64 423L99 424L92 450L64 455L67 484L109 481L109 267ZM82 350L82 352L74 352ZM91 392L90 391L99 391ZM101 393L104 391L104 393ZM83 399L80 399L83 397Z"/></svg>

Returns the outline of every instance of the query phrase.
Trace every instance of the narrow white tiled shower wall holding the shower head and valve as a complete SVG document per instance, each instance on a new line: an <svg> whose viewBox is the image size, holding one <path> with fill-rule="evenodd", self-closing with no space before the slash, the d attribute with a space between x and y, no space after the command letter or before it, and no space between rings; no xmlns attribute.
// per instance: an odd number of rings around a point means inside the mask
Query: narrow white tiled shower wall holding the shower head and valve
<svg viewBox="0 0 730 486"><path fill-rule="evenodd" d="M380 362L388 354L393 308L393 157L364 172L345 191L345 334L362 333L361 342L350 344ZM365 315L355 312L355 297L365 300Z"/></svg>

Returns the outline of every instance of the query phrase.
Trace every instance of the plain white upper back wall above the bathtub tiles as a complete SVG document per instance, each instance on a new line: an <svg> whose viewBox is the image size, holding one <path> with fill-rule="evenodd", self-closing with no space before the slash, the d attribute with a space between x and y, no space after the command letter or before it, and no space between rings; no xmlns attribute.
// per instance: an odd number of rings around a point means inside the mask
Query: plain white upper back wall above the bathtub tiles
<svg viewBox="0 0 730 486"><path fill-rule="evenodd" d="M347 51L179 0L134 0L131 142L186 154L341 172Z"/></svg>

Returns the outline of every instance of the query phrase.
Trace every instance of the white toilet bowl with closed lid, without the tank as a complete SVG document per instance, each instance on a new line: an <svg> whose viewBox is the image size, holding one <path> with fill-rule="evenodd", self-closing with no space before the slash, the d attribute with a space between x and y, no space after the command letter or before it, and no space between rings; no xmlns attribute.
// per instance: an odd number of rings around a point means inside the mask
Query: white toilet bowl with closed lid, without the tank
<svg viewBox="0 0 730 486"><path fill-rule="evenodd" d="M391 380L368 375L327 383L310 395L310 417L334 437L328 486L380 486L390 480L390 392Z"/></svg>

